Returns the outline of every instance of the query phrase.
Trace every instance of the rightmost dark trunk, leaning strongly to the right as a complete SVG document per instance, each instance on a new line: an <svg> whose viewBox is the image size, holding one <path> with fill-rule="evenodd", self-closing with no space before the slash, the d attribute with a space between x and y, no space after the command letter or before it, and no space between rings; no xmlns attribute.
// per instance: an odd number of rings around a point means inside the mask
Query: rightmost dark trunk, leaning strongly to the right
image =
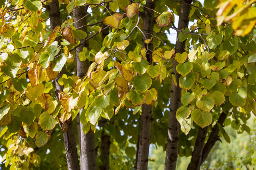
<svg viewBox="0 0 256 170"><path fill-rule="evenodd" d="M222 112L219 116L219 119L218 119L218 123L220 126L223 125L224 123L224 120L227 118L227 114ZM206 144L204 145L204 148L203 148L203 151L202 151L202 158L201 158L201 163L200 165L205 161L205 159L207 158L207 156L209 155L210 153L210 150L212 149L212 147L214 146L214 144L216 143L216 141L219 140L219 126L216 124L211 133L210 133L210 136L206 142Z"/></svg>

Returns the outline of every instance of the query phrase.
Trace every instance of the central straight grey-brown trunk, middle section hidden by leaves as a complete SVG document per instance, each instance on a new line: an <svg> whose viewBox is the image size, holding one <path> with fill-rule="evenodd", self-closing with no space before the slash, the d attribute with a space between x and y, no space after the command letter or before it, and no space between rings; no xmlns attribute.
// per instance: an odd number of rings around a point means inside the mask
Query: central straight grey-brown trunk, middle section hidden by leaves
<svg viewBox="0 0 256 170"><path fill-rule="evenodd" d="M146 5L144 7L144 12L142 13L143 18L143 33L145 35L142 41L142 48L146 47L146 59L152 64L152 51L153 44L146 44L144 40L150 39L153 34L154 29L154 11L151 9L155 8L155 1L146 0ZM137 165L135 169L137 170L147 170L147 162L148 162L148 152L149 152L149 144L150 144L150 133L151 133L151 123L152 123L152 105L142 105L141 112L141 128L140 128L140 139L139 139L139 147L138 156L137 156Z"/></svg>

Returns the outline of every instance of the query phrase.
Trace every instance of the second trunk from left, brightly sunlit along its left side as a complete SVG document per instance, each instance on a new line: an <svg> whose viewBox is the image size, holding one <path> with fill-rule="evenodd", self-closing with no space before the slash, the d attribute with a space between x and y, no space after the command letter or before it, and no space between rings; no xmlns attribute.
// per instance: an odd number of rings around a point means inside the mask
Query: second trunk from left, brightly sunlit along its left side
<svg viewBox="0 0 256 170"><path fill-rule="evenodd" d="M81 26L86 25L86 11L87 6L81 6L78 8L75 8L73 11L73 17L74 17L74 27L78 28ZM82 18L83 17L83 18ZM82 27L82 31L85 31L87 33L87 28ZM79 39L80 42L83 40ZM79 59L79 52L82 51L83 47L87 46L87 42L84 42L81 46L76 48L76 74L78 77L83 77L86 75L86 72L90 66L90 62L88 60L86 61L80 61ZM79 110L79 115L81 114L82 109ZM90 129L87 134L83 133L82 130L82 124L78 122L78 131L80 131L80 164L81 164L81 170L96 170L96 155L95 155L95 141L94 141L94 133Z"/></svg>

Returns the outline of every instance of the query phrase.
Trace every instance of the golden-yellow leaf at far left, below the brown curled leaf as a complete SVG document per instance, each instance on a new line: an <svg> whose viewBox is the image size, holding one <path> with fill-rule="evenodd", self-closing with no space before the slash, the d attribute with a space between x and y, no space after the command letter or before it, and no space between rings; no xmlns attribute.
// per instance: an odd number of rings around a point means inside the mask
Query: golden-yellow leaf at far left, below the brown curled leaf
<svg viewBox="0 0 256 170"><path fill-rule="evenodd" d="M41 96L44 93L45 86L40 83L36 86L29 86L26 90L27 98L33 102L36 101L36 99Z"/></svg>

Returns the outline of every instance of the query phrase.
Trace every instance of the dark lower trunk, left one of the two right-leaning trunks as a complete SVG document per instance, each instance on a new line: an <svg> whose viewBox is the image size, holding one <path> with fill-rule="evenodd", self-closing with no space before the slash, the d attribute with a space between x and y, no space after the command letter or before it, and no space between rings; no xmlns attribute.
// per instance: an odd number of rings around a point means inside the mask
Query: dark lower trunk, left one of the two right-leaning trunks
<svg viewBox="0 0 256 170"><path fill-rule="evenodd" d="M202 158L202 152L203 152L203 145L205 141L205 137L207 135L207 129L208 127L199 128L198 135L196 138L195 147L192 153L191 161L188 165L187 170L199 170L201 158Z"/></svg>

